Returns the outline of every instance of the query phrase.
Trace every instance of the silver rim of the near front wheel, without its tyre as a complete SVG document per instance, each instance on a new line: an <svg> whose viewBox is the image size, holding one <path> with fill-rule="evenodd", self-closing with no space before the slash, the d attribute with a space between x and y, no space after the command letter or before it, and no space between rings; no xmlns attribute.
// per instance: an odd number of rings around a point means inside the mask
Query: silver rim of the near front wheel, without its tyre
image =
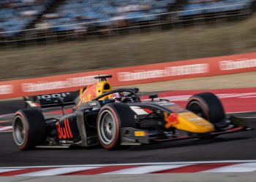
<svg viewBox="0 0 256 182"><path fill-rule="evenodd" d="M116 136L116 120L113 114L108 111L102 111L99 116L99 138L105 145L110 145Z"/></svg>

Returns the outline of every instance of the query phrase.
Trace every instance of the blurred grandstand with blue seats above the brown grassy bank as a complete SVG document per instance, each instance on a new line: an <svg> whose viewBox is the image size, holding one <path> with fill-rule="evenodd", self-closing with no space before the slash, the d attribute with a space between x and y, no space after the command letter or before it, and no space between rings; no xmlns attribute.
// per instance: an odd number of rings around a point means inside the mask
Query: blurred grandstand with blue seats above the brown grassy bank
<svg viewBox="0 0 256 182"><path fill-rule="evenodd" d="M2 0L0 37L31 31L90 32L250 14L255 0ZM36 31L35 30L35 31ZM40 35L40 34L39 34Z"/></svg>

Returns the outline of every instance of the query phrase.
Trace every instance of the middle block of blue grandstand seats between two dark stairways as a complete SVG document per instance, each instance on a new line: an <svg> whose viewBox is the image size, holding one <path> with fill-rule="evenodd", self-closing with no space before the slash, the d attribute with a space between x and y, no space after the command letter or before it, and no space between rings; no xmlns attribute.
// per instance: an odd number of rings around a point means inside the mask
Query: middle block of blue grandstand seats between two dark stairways
<svg viewBox="0 0 256 182"><path fill-rule="evenodd" d="M96 23L95 25L105 26L110 25L110 21L118 17L123 17L133 22L157 20L159 15L152 14L167 12L169 5L175 2L176 0L68 0L66 4L59 7L59 18L46 20L46 22L50 25L64 25L60 20L69 17L70 24L100 21L100 23ZM132 5L134 7L127 7ZM146 9L143 9L143 5L148 7L144 7ZM124 10L125 7L130 8L130 11ZM77 17L84 18L80 18L78 21ZM64 29L54 28L53 31L62 31Z"/></svg>

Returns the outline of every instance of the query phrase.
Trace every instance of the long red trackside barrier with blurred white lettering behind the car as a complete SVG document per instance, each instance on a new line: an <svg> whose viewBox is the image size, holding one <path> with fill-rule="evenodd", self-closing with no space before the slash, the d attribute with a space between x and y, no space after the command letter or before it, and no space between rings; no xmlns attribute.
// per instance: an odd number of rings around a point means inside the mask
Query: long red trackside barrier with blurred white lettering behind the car
<svg viewBox="0 0 256 182"><path fill-rule="evenodd" d="M247 71L256 71L256 52L0 82L0 99L78 90L99 74L112 74L113 86L123 86Z"/></svg>

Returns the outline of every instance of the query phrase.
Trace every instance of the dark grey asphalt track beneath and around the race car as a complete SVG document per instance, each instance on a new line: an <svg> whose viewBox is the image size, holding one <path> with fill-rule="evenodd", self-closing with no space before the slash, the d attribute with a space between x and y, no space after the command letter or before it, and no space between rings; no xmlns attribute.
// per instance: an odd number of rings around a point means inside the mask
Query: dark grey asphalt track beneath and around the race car
<svg viewBox="0 0 256 182"><path fill-rule="evenodd" d="M10 114L23 107L21 101L0 103L0 114ZM240 114L241 115L241 114ZM256 128L255 114L249 117L249 127ZM2 117L1 125L10 125L11 116ZM246 160L256 158L256 132L237 132L211 140L190 139L144 146L132 146L121 151L107 151L100 146L74 149L35 149L19 151L12 141L12 132L0 132L0 167L42 165L93 165L140 162L192 162Z"/></svg>

